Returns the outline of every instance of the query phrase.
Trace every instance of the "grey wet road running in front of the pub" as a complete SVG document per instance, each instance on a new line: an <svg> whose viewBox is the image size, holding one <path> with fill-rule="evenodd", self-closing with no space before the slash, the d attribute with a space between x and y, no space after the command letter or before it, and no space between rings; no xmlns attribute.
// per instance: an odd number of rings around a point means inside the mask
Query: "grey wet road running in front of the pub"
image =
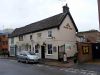
<svg viewBox="0 0 100 75"><path fill-rule="evenodd" d="M0 75L100 75L100 66L78 65L73 68L59 68L0 59Z"/></svg>

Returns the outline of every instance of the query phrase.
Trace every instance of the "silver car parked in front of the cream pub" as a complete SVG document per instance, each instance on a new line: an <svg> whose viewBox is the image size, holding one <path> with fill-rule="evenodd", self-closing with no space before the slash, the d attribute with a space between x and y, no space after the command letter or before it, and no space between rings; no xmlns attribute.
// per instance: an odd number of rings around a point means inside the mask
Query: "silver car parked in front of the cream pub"
<svg viewBox="0 0 100 75"><path fill-rule="evenodd" d="M40 58L35 53L29 52L29 51L23 51L17 54L17 61L18 62L39 62Z"/></svg>

